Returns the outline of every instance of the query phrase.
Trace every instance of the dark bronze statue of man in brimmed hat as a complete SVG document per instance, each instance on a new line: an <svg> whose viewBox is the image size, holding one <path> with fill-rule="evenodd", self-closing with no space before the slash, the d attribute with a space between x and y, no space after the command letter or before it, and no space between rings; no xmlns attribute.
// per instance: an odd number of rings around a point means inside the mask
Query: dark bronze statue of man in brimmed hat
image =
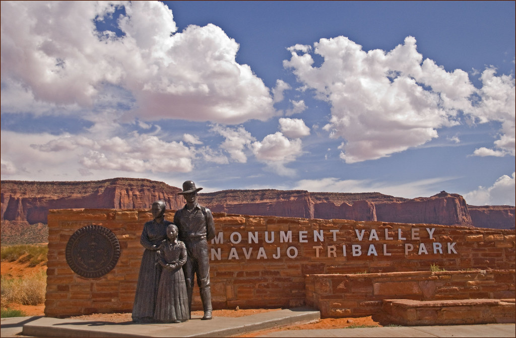
<svg viewBox="0 0 516 338"><path fill-rule="evenodd" d="M204 316L202 319L212 319L212 295L209 287L209 256L208 240L215 237L215 223L212 212L197 203L197 188L193 181L183 183L185 206L174 215L174 224L179 229L179 240L185 243L187 251L186 264L183 271L186 280L188 309L191 312L193 277L197 274L197 284L201 293Z"/></svg>

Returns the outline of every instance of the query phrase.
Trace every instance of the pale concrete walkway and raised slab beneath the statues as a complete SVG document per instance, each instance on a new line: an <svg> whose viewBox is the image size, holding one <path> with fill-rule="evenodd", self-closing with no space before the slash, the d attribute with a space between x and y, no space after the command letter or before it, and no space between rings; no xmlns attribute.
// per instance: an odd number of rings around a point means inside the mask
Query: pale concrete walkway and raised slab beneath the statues
<svg viewBox="0 0 516 338"><path fill-rule="evenodd" d="M2 337L228 337L279 326L308 323L319 319L319 312L296 308L265 312L246 317L194 316L180 324L112 323L51 317L3 318ZM262 337L514 337L514 324L378 327L326 330L285 330Z"/></svg>

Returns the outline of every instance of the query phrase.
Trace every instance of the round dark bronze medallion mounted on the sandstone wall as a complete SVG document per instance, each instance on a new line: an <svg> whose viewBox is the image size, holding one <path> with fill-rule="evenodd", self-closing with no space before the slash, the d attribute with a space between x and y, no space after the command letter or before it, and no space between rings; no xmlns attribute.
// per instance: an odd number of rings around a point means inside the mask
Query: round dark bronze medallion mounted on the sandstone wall
<svg viewBox="0 0 516 338"><path fill-rule="evenodd" d="M80 228L66 245L66 261L77 275L104 276L117 265L120 244L111 230L101 226Z"/></svg>

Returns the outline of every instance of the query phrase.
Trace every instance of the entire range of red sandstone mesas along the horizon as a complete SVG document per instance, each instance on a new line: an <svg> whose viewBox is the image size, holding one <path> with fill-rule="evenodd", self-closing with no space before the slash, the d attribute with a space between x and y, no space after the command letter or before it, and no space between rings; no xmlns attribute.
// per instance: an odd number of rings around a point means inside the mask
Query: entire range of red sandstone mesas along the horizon
<svg viewBox="0 0 516 338"><path fill-rule="evenodd" d="M103 181L2 181L2 220L46 223L50 209L150 208L165 200L169 210L183 207L181 189L147 179ZM406 199L379 192L336 193L305 190L222 190L200 193L213 212L321 219L353 219L398 223L431 223L514 229L514 206L471 206L457 194Z"/></svg>

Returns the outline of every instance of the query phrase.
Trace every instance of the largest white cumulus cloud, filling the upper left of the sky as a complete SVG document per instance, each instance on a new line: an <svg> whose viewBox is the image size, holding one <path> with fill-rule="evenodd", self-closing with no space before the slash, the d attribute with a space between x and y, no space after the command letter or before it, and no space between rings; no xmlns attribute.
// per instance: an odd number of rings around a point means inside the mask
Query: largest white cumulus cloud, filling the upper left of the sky
<svg viewBox="0 0 516 338"><path fill-rule="evenodd" d="M276 114L269 89L239 45L213 24L181 33L160 2L2 2L2 83L23 87L31 104L98 102L106 84L128 91L127 114L241 123ZM125 9L121 31L96 31L95 20ZM15 110L13 102L6 102ZM2 100L4 112L4 100Z"/></svg>

